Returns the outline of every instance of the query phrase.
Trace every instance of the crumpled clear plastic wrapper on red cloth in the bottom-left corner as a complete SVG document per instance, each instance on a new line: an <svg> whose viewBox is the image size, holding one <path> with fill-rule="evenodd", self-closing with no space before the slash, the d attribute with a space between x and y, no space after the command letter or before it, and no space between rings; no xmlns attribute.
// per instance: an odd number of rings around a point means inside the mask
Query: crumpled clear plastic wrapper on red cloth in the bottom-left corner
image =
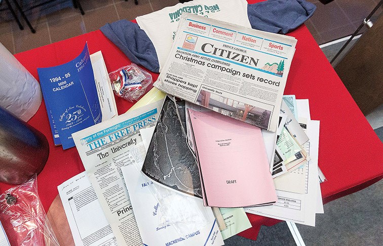
<svg viewBox="0 0 383 246"><path fill-rule="evenodd" d="M59 245L37 194L36 175L0 195L0 219L11 245Z"/></svg>

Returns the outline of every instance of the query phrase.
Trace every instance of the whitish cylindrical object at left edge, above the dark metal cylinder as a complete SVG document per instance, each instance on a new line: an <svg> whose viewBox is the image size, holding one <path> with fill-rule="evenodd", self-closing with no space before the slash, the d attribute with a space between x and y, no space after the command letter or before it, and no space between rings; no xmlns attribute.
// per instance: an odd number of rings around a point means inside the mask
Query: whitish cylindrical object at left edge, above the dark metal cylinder
<svg viewBox="0 0 383 246"><path fill-rule="evenodd" d="M1 2L1 1L0 1ZM0 106L23 121L40 108L40 84L0 43Z"/></svg>

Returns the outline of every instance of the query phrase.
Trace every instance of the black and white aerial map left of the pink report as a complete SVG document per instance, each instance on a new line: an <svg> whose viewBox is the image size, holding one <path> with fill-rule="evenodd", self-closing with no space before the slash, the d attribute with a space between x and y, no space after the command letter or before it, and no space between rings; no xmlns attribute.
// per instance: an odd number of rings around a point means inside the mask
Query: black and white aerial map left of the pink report
<svg viewBox="0 0 383 246"><path fill-rule="evenodd" d="M178 104L182 106L184 104ZM187 146L176 107L170 97L166 97L142 172L166 187L202 198L198 165ZM178 111L184 112L184 109Z"/></svg>

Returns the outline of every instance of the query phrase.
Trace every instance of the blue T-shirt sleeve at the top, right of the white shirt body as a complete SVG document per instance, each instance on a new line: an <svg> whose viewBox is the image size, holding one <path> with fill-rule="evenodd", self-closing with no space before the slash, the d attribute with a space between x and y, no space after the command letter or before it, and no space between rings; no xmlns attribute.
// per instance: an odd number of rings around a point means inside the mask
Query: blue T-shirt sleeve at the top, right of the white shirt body
<svg viewBox="0 0 383 246"><path fill-rule="evenodd" d="M247 6L253 29L286 34L307 21L317 7L304 0L269 0Z"/></svg>

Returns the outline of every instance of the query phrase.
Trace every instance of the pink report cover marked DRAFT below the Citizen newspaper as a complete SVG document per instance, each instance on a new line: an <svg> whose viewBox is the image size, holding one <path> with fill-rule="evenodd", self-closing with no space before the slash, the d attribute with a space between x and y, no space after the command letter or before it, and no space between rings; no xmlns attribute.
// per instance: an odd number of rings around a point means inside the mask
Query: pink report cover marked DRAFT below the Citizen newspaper
<svg viewBox="0 0 383 246"><path fill-rule="evenodd" d="M188 109L204 205L235 208L277 201L260 128Z"/></svg>

